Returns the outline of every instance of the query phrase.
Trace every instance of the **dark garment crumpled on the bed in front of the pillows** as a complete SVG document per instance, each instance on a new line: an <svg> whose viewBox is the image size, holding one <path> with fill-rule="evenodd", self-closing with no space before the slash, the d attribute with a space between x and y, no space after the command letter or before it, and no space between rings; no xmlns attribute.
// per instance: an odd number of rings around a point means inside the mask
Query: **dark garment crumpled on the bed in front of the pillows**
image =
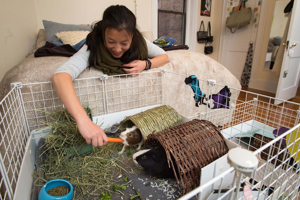
<svg viewBox="0 0 300 200"><path fill-rule="evenodd" d="M57 46L51 42L46 42L43 47L38 48L35 51L35 57L43 57L43 56L64 56L71 57L77 51L73 49L70 44L63 44Z"/></svg>

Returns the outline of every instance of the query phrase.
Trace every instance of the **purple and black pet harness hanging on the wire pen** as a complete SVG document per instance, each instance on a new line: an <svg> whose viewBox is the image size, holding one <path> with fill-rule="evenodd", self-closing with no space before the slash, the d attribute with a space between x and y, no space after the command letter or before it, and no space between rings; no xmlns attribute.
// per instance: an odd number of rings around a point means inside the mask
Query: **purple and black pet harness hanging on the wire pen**
<svg viewBox="0 0 300 200"><path fill-rule="evenodd" d="M209 99L212 99L214 101L214 106L211 108L211 106L208 103L208 108L216 109L216 108L227 108L229 109L229 101L231 92L228 88L228 86L225 86L223 89L220 90L217 94L212 94L208 96L208 102Z"/></svg>

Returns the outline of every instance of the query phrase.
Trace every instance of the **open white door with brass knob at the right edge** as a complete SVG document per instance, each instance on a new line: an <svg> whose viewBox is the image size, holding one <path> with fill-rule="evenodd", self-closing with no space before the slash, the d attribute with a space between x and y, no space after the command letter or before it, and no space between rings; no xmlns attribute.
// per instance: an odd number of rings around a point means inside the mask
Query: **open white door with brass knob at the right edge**
<svg viewBox="0 0 300 200"><path fill-rule="evenodd" d="M276 91L276 98L288 100L296 95L300 74L300 1L295 0L292 10L289 32ZM295 45L295 46L294 46ZM293 47L294 46L294 47ZM290 47L294 49L291 50ZM292 52L293 51L293 52ZM286 74L287 73L287 74ZM281 101L275 100L274 104Z"/></svg>

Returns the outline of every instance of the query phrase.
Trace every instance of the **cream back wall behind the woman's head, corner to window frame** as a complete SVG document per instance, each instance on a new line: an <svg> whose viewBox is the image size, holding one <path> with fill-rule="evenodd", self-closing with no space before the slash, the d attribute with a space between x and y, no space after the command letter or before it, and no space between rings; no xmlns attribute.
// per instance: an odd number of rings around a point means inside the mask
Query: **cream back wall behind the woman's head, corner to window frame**
<svg viewBox="0 0 300 200"><path fill-rule="evenodd" d="M42 20L65 24L91 24L102 19L103 11L107 7L117 4L125 5L137 16L137 24L141 31L151 30L151 0L35 0L38 27L44 28Z"/></svg>

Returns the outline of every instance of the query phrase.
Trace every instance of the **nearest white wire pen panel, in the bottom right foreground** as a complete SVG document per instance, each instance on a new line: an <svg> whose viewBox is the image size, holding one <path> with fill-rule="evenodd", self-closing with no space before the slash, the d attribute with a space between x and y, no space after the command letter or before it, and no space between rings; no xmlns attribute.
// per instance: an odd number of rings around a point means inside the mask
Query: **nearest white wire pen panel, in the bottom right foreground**
<svg viewBox="0 0 300 200"><path fill-rule="evenodd" d="M244 175L241 171L231 167L205 184L182 196L179 200L190 199L195 195L197 195L198 199L208 200L245 199L243 191L245 189L245 185L249 186L251 189L251 198L249 199L296 199L300 184L298 166L299 138L289 141L290 145L288 145L287 148L292 148L294 153L287 157L279 165L276 164L278 161L278 155L284 151L286 152L287 149L282 149L280 152L276 152L274 156L270 155L276 142L281 144L286 135L289 135L292 131L299 132L299 126L300 124L290 129L290 131L284 133L280 137L270 141L268 144L265 144L265 146L254 151L253 154L261 156L261 152L269 147L268 157L266 160L262 159L259 163L259 167L253 172ZM272 160L275 161L275 165L271 164ZM232 185L226 187L223 183L226 180L226 176L230 173L235 173L235 179L233 180ZM210 191L210 195L204 195L206 190Z"/></svg>

